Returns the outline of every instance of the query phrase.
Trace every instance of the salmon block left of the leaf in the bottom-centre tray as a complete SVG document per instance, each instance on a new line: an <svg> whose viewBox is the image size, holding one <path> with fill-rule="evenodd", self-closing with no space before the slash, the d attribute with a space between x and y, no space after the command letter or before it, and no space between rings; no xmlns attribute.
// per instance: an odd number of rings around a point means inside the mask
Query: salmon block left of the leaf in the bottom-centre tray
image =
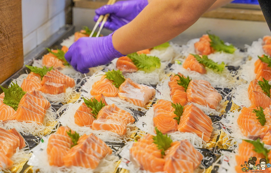
<svg viewBox="0 0 271 173"><path fill-rule="evenodd" d="M147 134L138 142L133 143L130 149L130 160L143 170L162 172L165 160L162 158L161 150L153 143L152 138L152 135ZM147 141L147 143L144 141Z"/></svg>

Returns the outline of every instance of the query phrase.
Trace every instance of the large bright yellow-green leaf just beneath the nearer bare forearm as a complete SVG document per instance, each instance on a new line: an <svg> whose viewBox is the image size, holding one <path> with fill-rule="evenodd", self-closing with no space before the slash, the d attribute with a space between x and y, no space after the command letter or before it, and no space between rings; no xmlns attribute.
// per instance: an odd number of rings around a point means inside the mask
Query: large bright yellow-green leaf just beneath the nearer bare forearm
<svg viewBox="0 0 271 173"><path fill-rule="evenodd" d="M146 54L131 53L127 55L139 70L150 70L151 68L160 68L160 59L156 56L147 56Z"/></svg>

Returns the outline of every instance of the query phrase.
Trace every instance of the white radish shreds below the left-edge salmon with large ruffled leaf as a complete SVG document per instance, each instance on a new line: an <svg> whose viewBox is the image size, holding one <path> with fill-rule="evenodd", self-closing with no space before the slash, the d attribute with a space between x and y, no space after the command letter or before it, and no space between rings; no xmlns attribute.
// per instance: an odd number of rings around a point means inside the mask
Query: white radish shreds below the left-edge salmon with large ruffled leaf
<svg viewBox="0 0 271 173"><path fill-rule="evenodd" d="M38 124L34 121L17 121L17 120L9 120L9 121L2 121L0 120L0 127L5 129L12 129L15 128L18 132L29 135L33 134L39 137L42 137L44 131L55 131L56 129L56 113L50 107L47 109L43 124Z"/></svg>

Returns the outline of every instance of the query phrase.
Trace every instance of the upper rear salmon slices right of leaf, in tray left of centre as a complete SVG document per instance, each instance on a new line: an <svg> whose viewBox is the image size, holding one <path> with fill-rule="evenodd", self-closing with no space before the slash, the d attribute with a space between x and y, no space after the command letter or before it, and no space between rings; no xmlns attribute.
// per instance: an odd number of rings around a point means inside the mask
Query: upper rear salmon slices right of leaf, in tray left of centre
<svg viewBox="0 0 271 173"><path fill-rule="evenodd" d="M98 113L97 119L99 117L106 118L107 116L114 116L121 118L127 125L129 123L134 123L134 117L127 111L118 108L115 104L104 106Z"/></svg>

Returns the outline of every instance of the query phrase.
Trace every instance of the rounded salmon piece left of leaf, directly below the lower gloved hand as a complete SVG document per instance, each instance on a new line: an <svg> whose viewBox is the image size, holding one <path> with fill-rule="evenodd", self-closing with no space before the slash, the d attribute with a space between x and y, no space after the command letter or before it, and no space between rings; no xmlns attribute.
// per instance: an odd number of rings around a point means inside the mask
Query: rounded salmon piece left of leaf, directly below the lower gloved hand
<svg viewBox="0 0 271 173"><path fill-rule="evenodd" d="M93 83L90 94L92 96L103 94L106 97L115 97L118 95L118 88L110 80L105 79L105 76L102 76L101 80Z"/></svg>

